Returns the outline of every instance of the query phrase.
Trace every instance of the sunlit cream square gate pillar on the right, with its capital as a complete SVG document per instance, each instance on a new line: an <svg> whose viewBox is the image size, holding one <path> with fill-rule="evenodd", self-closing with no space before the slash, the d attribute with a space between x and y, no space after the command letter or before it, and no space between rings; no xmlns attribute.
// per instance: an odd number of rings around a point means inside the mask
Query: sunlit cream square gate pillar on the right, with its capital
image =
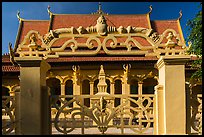
<svg viewBox="0 0 204 137"><path fill-rule="evenodd" d="M156 91L161 92L156 100L156 134L186 134L185 63L189 59L165 56L156 63L159 85L163 87Z"/></svg>

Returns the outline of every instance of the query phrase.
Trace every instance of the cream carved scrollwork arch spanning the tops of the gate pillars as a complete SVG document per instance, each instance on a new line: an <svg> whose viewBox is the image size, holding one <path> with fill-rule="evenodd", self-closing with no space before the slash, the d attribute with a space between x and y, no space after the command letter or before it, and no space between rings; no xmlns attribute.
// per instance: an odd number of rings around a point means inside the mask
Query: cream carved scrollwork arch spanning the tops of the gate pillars
<svg viewBox="0 0 204 137"><path fill-rule="evenodd" d="M100 18L99 23L102 23L102 20L103 18ZM106 24L103 25L102 28L98 26L98 29L100 28L98 31L97 25L87 27L86 29L82 26L79 26L77 29L74 27L59 28L50 30L50 32L44 36L32 30L28 32L23 42L19 44L17 53L19 53L20 56L41 55L45 58L59 56L93 56L98 54L101 50L108 55L144 55L156 56L158 58L161 54L185 54L185 43L181 41L179 34L173 29L167 29L159 35L152 29L142 27L128 26L124 28L120 26L116 28L107 26ZM97 35L96 33L100 34ZM143 46L136 37L146 40L149 46ZM64 38L68 38L64 44L59 47L52 47L55 42ZM78 38L83 38L85 42L78 42ZM119 41L120 38L123 40ZM163 43L164 38L168 40L166 43ZM41 43L41 47L37 44L39 42ZM170 48L171 45L182 46L183 49ZM24 50L31 48L31 46L33 46L32 50Z"/></svg>

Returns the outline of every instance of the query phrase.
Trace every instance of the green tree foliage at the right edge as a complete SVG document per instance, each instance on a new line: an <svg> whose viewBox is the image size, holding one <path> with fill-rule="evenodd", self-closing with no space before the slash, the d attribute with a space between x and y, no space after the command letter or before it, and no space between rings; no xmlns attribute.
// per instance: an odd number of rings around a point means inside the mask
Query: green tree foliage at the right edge
<svg viewBox="0 0 204 137"><path fill-rule="evenodd" d="M202 3L200 4L202 7ZM192 63L192 67L198 70L191 76L192 79L202 80L202 9L198 11L195 18L187 22L190 34L187 42L190 43L189 54L197 56L197 60Z"/></svg>

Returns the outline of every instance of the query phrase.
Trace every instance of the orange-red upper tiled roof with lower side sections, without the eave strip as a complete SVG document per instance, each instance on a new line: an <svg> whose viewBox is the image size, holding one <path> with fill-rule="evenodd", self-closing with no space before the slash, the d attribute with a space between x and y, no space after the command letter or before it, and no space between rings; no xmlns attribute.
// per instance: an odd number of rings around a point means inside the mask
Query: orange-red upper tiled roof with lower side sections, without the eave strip
<svg viewBox="0 0 204 137"><path fill-rule="evenodd" d="M181 33L179 31L178 20L156 20L150 21L149 14L128 14L128 15L104 15L106 18L106 22L108 26L113 26L118 28L119 26L127 27L143 27L143 28L152 28L154 31L162 34L166 29L174 29L177 33ZM30 30L36 30L40 33L40 35L45 35L48 33L49 29L55 30L59 28L70 28L79 26L83 26L87 28L89 26L95 26L96 21L99 15L97 14L52 14L50 20L23 20L22 27L19 30L19 39L17 39L16 46L21 43L25 37L25 35ZM180 34L181 37L182 34ZM53 43L52 47L58 47L65 43L69 38L62 38ZM149 42L143 38L135 37L141 45L150 46ZM100 38L101 42L103 38ZM121 39L118 39L120 42ZM86 42L86 39L80 38L77 42ZM124 41L121 41L124 42ZM164 39L163 42L166 42ZM15 47L16 49L17 47Z"/></svg>

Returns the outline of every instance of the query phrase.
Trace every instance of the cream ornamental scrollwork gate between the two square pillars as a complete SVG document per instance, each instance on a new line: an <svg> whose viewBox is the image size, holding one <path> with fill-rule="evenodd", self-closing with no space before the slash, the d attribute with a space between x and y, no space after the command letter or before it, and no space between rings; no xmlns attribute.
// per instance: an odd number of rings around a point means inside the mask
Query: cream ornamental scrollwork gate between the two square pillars
<svg viewBox="0 0 204 137"><path fill-rule="evenodd" d="M87 99L90 106L84 105ZM114 106L118 99L120 104ZM147 94L53 95L54 134L153 134L154 100Z"/></svg>

